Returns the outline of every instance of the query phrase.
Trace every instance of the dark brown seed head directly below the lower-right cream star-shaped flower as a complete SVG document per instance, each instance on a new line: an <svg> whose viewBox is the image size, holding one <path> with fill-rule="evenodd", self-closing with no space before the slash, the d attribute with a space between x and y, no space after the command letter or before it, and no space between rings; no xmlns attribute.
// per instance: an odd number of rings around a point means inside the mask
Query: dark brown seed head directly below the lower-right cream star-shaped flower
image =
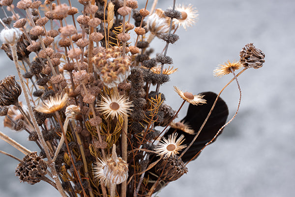
<svg viewBox="0 0 295 197"><path fill-rule="evenodd" d="M187 173L187 167L181 159L176 157L169 157L167 160L161 160L155 166L156 172L161 176L163 181L176 181L183 174Z"/></svg>

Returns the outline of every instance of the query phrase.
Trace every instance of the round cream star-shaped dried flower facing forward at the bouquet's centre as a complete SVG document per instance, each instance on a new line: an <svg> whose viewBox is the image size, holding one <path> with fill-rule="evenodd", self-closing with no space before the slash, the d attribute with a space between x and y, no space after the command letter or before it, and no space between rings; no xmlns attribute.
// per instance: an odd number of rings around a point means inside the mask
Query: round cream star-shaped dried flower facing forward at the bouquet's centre
<svg viewBox="0 0 295 197"><path fill-rule="evenodd" d="M127 115L132 111L132 101L128 101L128 98L124 95L111 94L109 97L101 96L102 100L97 101L96 109L106 115L107 118L111 116L112 119L118 116Z"/></svg>

